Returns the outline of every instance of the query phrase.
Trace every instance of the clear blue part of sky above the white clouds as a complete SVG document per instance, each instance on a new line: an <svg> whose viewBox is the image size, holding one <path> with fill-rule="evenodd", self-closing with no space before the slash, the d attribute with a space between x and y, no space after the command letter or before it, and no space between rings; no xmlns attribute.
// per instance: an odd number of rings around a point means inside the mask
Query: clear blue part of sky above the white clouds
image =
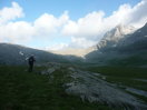
<svg viewBox="0 0 147 110"><path fill-rule="evenodd" d="M24 10L27 21L32 21L42 13L56 17L69 11L72 20L77 20L89 12L102 10L110 16L120 4L135 6L140 0L0 0L0 8L10 7L12 1L18 2Z"/></svg>

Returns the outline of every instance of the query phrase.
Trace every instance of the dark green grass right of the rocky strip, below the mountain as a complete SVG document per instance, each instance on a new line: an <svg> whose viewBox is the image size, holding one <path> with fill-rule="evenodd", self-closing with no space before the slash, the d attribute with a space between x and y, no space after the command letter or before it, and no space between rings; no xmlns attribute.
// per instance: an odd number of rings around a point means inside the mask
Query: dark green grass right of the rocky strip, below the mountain
<svg viewBox="0 0 147 110"><path fill-rule="evenodd" d="M135 80L146 79L147 69L145 68L126 68L126 67L89 67L89 71L99 72L106 76L109 82L121 83L136 89L147 91L147 82Z"/></svg>

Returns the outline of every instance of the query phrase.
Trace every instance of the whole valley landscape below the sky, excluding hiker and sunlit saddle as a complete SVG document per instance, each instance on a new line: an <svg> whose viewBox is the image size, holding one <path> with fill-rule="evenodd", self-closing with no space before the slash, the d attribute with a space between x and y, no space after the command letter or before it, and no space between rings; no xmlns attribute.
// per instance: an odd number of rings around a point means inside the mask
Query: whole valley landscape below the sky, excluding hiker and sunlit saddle
<svg viewBox="0 0 147 110"><path fill-rule="evenodd" d="M0 43L0 109L146 110L147 24L126 29L116 27L84 57Z"/></svg>

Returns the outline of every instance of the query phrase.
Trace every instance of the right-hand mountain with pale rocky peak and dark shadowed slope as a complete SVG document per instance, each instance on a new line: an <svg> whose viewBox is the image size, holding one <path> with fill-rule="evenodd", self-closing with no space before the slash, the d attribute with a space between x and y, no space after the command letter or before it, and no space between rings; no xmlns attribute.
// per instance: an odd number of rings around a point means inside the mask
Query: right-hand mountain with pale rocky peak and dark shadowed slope
<svg viewBox="0 0 147 110"><path fill-rule="evenodd" d="M99 64L147 66L147 23L134 30L117 27L107 32L97 44L97 50L86 56L86 61Z"/></svg>

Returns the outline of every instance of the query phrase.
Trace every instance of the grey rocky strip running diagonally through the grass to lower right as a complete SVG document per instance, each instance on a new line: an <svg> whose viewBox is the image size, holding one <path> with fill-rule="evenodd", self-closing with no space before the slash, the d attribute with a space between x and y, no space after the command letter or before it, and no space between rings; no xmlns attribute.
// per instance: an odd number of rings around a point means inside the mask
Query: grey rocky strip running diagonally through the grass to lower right
<svg viewBox="0 0 147 110"><path fill-rule="evenodd" d="M56 70L68 72L65 76L70 76L71 81L63 84L68 94L79 96L82 101L100 102L112 108L124 108L124 110L147 110L145 102L105 81L105 77L100 73L82 71L72 67L65 67L66 70L62 70L61 67L52 64L42 71L42 74L53 74Z"/></svg>

